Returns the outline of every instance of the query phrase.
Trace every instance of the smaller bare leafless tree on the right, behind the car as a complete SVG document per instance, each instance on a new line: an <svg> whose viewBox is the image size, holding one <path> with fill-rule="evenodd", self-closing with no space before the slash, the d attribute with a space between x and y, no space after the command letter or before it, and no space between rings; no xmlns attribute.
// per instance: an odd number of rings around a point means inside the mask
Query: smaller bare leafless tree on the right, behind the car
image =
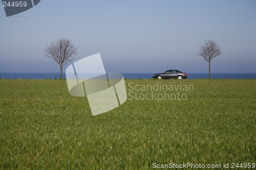
<svg viewBox="0 0 256 170"><path fill-rule="evenodd" d="M222 51L220 50L220 46L213 39L204 42L204 45L199 46L200 51L196 53L196 56L203 57L203 61L207 61L209 63L209 79L210 79L210 62L216 56L221 55Z"/></svg>

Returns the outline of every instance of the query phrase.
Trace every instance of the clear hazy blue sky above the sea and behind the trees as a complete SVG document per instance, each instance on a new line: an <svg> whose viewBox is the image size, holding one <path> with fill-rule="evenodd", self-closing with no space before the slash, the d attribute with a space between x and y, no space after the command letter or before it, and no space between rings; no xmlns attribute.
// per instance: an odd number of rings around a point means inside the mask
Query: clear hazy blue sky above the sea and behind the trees
<svg viewBox="0 0 256 170"><path fill-rule="evenodd" d="M0 72L59 72L42 51L58 37L107 72L208 72L195 54L209 39L222 50L211 72L256 72L255 0L41 0L10 17L1 6L0 26Z"/></svg>

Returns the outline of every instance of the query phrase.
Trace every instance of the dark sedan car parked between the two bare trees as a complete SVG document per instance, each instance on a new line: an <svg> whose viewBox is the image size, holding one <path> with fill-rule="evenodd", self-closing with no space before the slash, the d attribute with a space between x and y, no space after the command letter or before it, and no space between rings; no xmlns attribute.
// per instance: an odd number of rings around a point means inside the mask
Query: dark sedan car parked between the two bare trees
<svg viewBox="0 0 256 170"><path fill-rule="evenodd" d="M181 72L177 69L170 69L166 70L163 73L155 74L153 75L153 79L158 78L158 79L187 79L187 74L185 72Z"/></svg>

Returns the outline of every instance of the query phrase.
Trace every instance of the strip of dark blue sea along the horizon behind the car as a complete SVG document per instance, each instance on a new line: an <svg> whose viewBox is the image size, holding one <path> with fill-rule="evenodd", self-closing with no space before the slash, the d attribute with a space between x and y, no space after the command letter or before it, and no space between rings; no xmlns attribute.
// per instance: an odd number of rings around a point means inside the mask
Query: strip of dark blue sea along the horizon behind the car
<svg viewBox="0 0 256 170"><path fill-rule="evenodd" d="M122 75L127 79L152 79L156 73L131 73L123 72ZM188 79L208 79L208 73L188 73ZM26 73L26 72L0 72L0 79L60 79L59 72L41 72L41 73ZM62 75L66 79L65 73ZM256 73L211 73L211 79L256 79Z"/></svg>

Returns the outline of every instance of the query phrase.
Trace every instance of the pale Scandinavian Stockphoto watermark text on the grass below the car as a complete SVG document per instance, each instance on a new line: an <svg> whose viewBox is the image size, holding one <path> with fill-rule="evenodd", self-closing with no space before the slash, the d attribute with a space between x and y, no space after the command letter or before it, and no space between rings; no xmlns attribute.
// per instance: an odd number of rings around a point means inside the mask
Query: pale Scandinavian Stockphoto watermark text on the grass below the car
<svg viewBox="0 0 256 170"><path fill-rule="evenodd" d="M187 92L194 91L194 85L189 84L134 84L128 83L128 100L187 100Z"/></svg>

